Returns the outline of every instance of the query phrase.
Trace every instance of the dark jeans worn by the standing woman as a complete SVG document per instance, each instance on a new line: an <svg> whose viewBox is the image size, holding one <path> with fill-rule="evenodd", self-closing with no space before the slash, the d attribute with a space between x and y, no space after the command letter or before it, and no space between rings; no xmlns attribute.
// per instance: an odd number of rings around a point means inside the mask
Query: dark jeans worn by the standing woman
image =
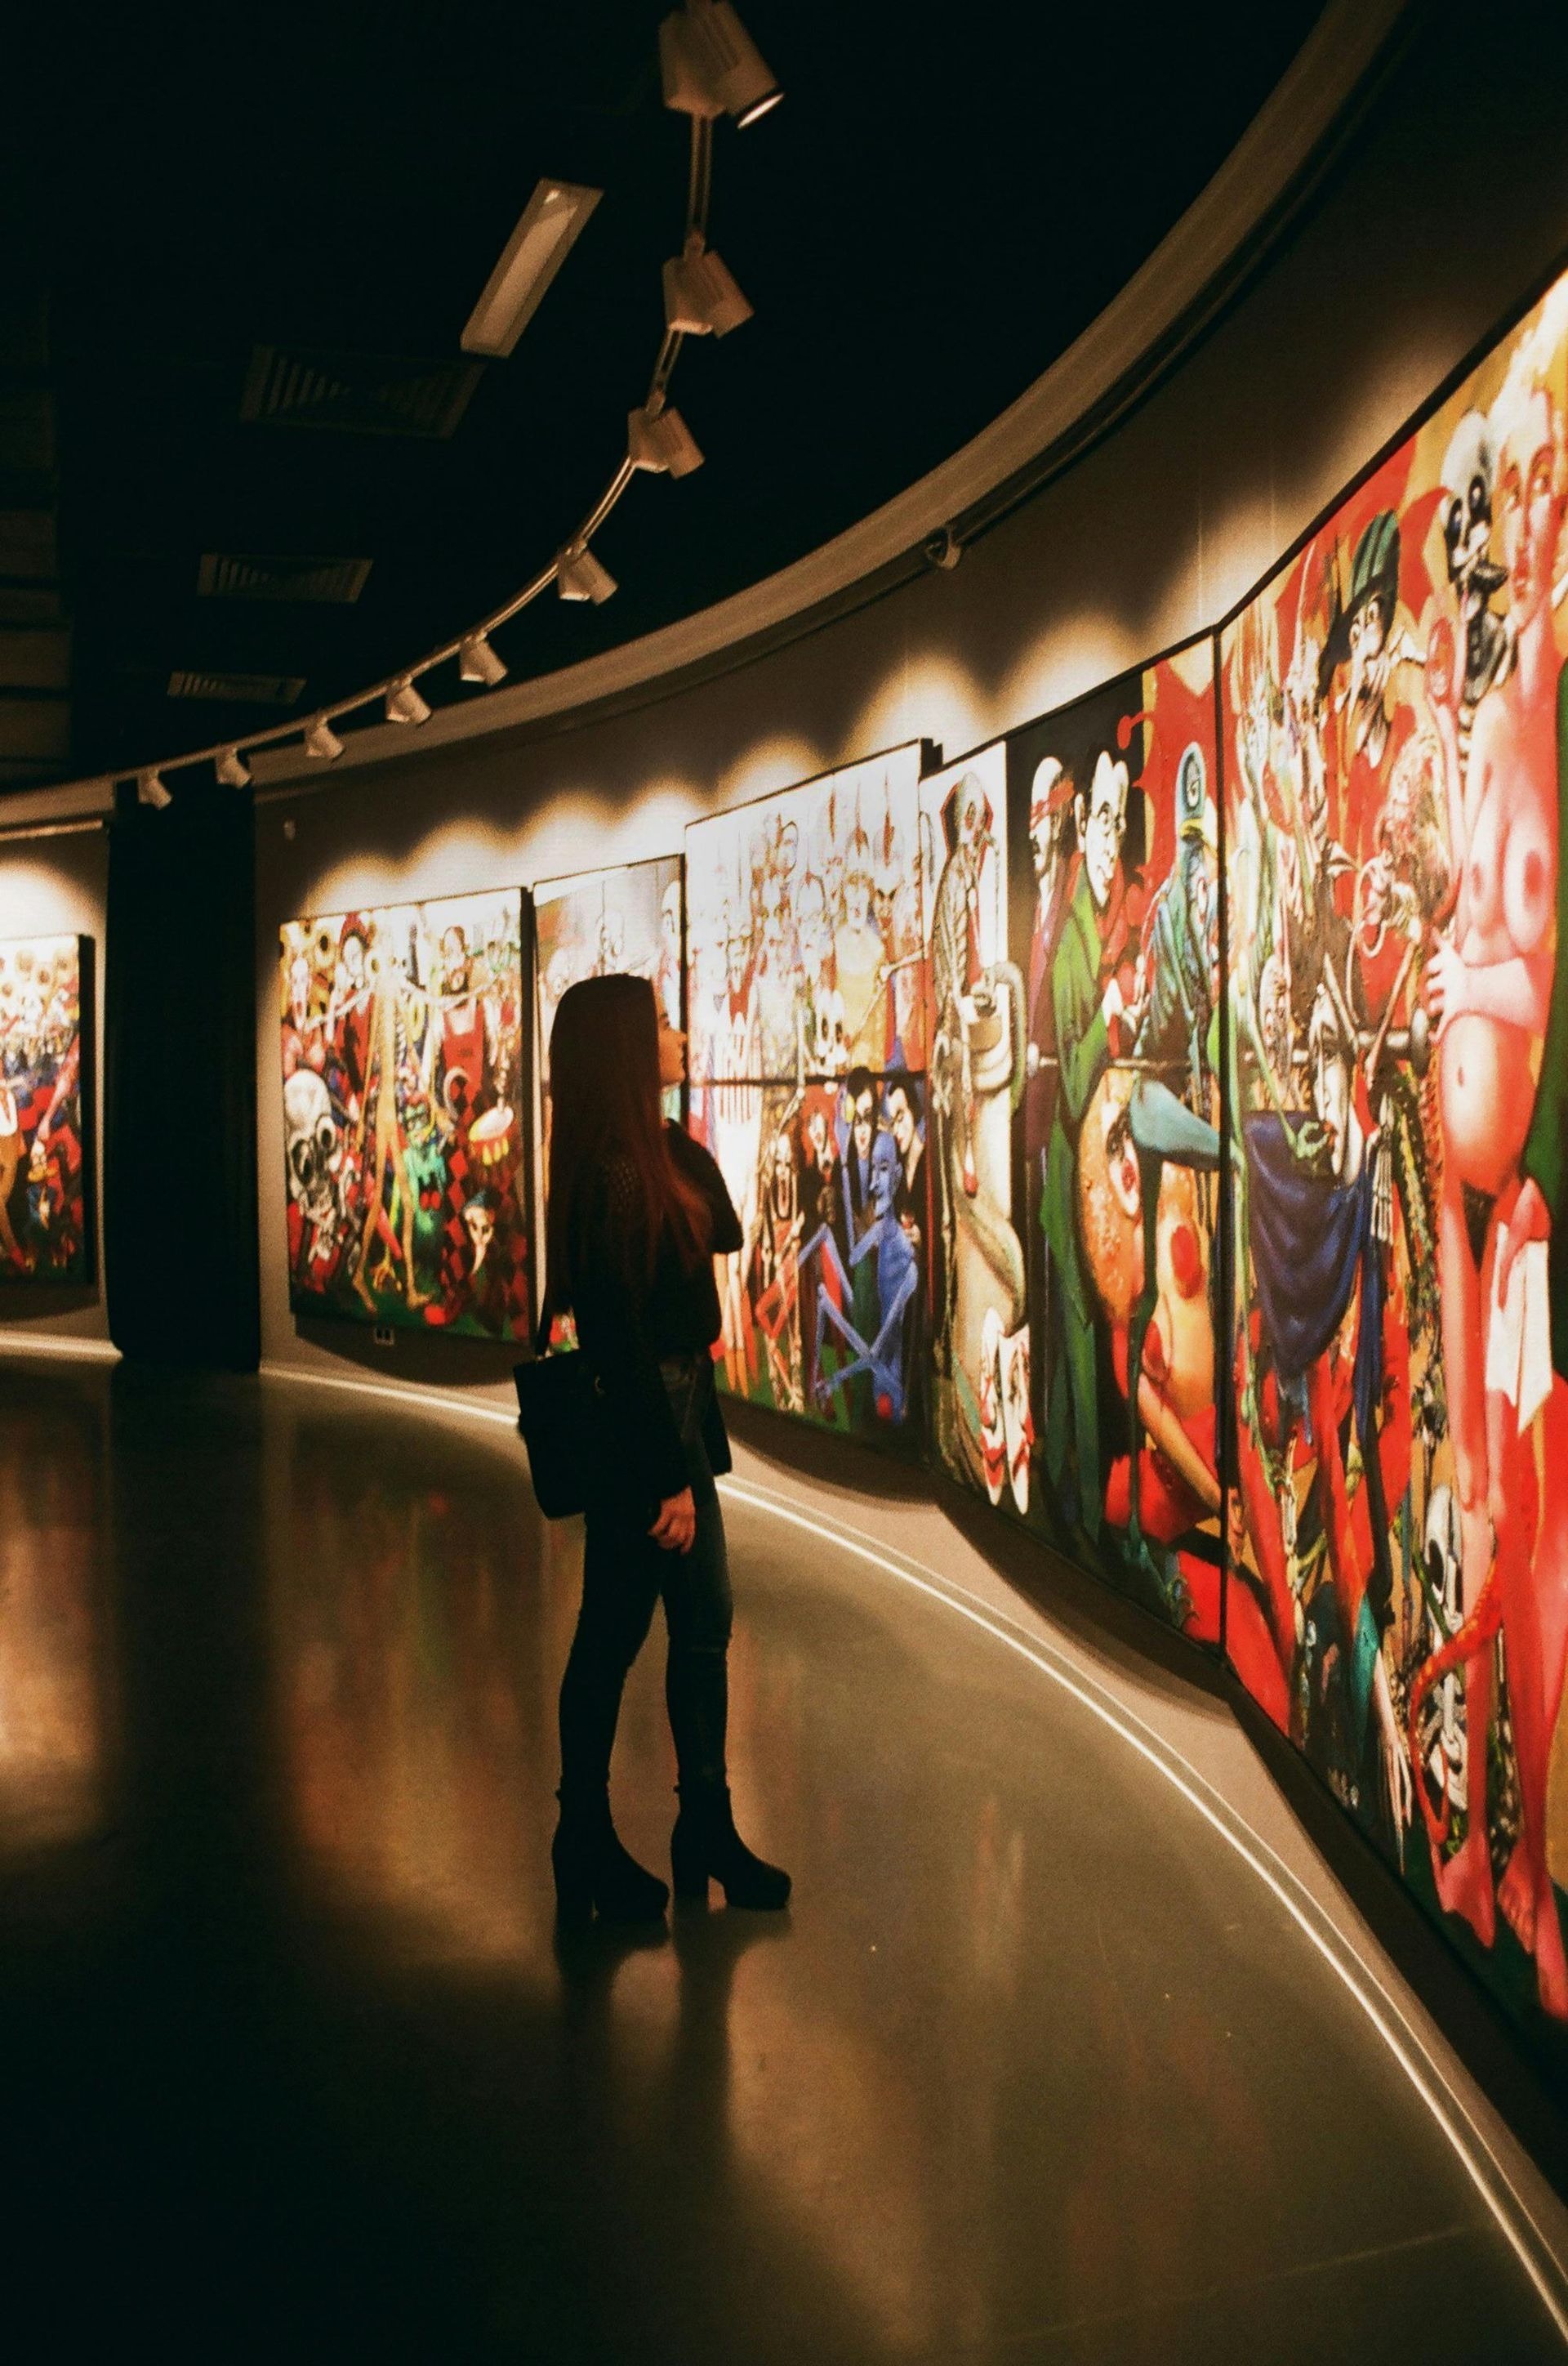
<svg viewBox="0 0 1568 2366"><path fill-rule="evenodd" d="M646 1521L622 1507L587 1517L582 1609L561 1682L563 1805L603 1791L610 1779L622 1687L648 1640L655 1602L665 1604L669 1637L665 1701L681 1789L726 1779L731 1585L724 1512L702 1450L702 1408L714 1377L707 1358L674 1358L662 1375L681 1424L698 1533L691 1552L665 1552Z"/></svg>

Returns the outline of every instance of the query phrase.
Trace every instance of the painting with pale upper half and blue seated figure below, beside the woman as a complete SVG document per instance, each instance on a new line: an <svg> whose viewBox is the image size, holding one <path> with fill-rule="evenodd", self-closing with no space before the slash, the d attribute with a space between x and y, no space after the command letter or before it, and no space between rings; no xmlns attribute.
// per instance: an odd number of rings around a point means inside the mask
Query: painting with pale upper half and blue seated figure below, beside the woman
<svg viewBox="0 0 1568 2366"><path fill-rule="evenodd" d="M721 1382L915 1453L925 1427L920 750L686 830L691 1129L745 1233Z"/></svg>

